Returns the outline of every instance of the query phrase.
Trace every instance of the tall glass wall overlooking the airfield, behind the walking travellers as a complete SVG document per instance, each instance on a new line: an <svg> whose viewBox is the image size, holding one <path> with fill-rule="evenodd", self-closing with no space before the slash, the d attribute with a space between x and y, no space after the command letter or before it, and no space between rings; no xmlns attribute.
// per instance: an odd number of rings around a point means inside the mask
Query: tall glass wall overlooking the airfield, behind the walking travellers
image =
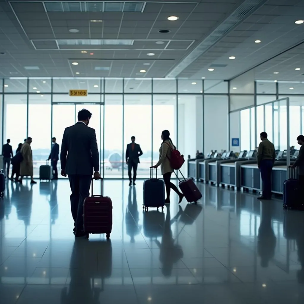
<svg viewBox="0 0 304 304"><path fill-rule="evenodd" d="M33 138L34 177L50 154L51 138L61 146L64 129L83 108L92 112L89 126L96 131L104 178L128 178L125 150L131 136L143 151L137 178L149 177L158 161L162 130L170 131L185 159L203 150L202 79L9 78L0 84L2 143L9 138L15 153L27 136ZM87 95L70 96L76 89ZM187 175L186 165L182 173Z"/></svg>

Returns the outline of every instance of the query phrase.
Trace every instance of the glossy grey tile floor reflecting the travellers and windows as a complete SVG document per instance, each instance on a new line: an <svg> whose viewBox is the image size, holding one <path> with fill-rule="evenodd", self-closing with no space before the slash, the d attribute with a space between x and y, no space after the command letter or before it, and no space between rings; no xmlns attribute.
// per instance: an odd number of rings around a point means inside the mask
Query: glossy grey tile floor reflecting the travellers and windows
<svg viewBox="0 0 304 304"><path fill-rule="evenodd" d="M106 242L74 240L67 180L8 181L0 303L303 303L304 212L199 187L201 205L178 206L172 193L164 213L143 213L143 181L105 181L114 205Z"/></svg>

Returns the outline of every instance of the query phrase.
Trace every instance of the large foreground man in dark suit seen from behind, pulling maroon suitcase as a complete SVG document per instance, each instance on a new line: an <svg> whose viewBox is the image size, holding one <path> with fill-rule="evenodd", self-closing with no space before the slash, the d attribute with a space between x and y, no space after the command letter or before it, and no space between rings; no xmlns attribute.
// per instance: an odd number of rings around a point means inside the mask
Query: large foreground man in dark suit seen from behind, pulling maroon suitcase
<svg viewBox="0 0 304 304"><path fill-rule="evenodd" d="M70 181L75 237L86 236L83 231L83 201L90 195L93 169L94 178L100 178L96 133L88 127L91 117L88 110L79 111L78 122L64 130L61 144L61 175L68 175Z"/></svg>

